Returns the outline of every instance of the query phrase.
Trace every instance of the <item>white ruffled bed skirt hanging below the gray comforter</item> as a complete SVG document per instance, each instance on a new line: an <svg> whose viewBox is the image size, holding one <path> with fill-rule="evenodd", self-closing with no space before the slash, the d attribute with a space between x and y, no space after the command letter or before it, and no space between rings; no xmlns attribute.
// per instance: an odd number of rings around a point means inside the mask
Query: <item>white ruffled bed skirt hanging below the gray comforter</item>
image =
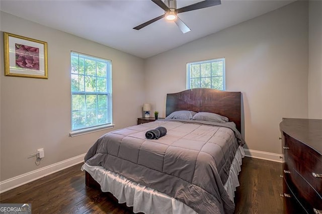
<svg viewBox="0 0 322 214"><path fill-rule="evenodd" d="M229 177L224 185L232 201L235 195L234 191L239 186L238 174L241 159L244 157L244 150L239 146L230 166ZM119 203L133 206L133 212L135 213L197 213L185 203L167 194L130 181L122 175L111 172L101 166L90 166L85 163L82 166L82 170L86 170L91 174L94 180L101 185L103 192L111 192Z"/></svg>

